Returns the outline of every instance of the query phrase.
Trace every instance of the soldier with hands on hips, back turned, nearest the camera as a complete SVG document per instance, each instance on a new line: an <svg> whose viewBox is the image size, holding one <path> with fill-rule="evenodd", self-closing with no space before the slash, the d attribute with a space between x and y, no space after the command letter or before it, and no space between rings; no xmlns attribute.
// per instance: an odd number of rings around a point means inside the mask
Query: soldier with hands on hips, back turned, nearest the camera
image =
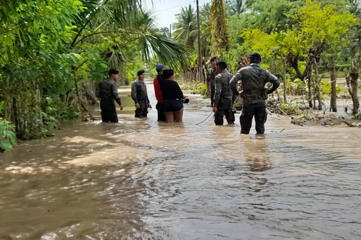
<svg viewBox="0 0 361 240"><path fill-rule="evenodd" d="M265 132L264 124L267 120L266 101L267 95L279 87L279 80L269 71L260 67L261 55L252 53L249 55L251 65L241 68L233 76L230 86L234 94L238 94L237 83L242 81L242 114L239 118L241 133L249 134L252 127L252 119L255 116L257 134ZM269 89L265 89L267 82L272 83Z"/></svg>

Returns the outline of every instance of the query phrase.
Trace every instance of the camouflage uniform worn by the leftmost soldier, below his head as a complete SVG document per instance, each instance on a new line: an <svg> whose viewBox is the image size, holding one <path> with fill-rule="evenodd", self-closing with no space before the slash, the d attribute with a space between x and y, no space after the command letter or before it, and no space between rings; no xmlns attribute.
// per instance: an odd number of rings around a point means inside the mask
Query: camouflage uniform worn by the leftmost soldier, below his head
<svg viewBox="0 0 361 240"><path fill-rule="evenodd" d="M100 82L98 98L100 98L101 120L103 122L118 122L114 100L119 105L122 103L118 96L117 82L111 78Z"/></svg>

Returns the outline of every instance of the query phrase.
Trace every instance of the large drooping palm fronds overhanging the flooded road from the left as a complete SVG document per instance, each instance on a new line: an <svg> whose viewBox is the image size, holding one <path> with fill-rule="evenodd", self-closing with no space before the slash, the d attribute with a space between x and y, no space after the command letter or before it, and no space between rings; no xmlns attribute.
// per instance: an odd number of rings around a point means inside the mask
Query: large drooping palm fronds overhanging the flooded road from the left
<svg viewBox="0 0 361 240"><path fill-rule="evenodd" d="M144 12L144 0L81 0L87 9L79 16L78 34L71 47L96 34L117 33L139 42L139 51L147 63L153 56L170 66L186 66L187 48L156 27L153 12ZM84 36L84 30L92 32ZM82 37L82 38L81 38ZM79 39L80 38L80 39Z"/></svg>

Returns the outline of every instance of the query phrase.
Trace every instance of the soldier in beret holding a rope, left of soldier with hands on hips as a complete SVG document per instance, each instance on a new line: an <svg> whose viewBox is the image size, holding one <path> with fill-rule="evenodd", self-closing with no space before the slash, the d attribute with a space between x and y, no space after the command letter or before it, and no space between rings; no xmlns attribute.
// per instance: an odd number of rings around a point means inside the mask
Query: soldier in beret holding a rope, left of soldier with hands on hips
<svg viewBox="0 0 361 240"><path fill-rule="evenodd" d="M228 123L234 124L234 113L232 111L233 105L233 93L229 86L229 81L233 77L233 74L227 70L227 63L225 61L217 62L218 75L214 78L214 100L213 100L213 112L214 123L216 125L223 125L223 116L226 117Z"/></svg>

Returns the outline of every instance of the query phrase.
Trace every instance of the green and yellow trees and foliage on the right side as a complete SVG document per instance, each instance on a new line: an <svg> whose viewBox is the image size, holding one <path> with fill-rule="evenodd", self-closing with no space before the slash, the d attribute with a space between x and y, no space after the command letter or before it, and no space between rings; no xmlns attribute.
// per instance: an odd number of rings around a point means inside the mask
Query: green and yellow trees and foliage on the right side
<svg viewBox="0 0 361 240"><path fill-rule="evenodd" d="M194 13L191 5L187 9ZM219 54L229 64L229 71L235 73L243 66L244 57L257 51L263 56L262 67L283 80L283 101L288 100L288 94L295 93L292 87L299 84L301 92L308 95L306 102L310 108L321 109L325 96L331 94L331 109L336 111L338 75L346 78L353 101L352 113L358 112L357 81L361 70L358 0L212 0L212 6L204 5L200 13L204 72L209 68L205 63L210 54ZM183 12L179 13L178 19L184 19L182 15ZM188 23L196 26L195 18L188 18ZM177 24L176 38L183 31L177 29ZM220 51L222 48L226 51ZM194 47L192 56L196 54ZM188 64L195 67L197 62L188 60ZM187 79L196 76L185 70L182 73ZM331 77L331 81L322 80L326 77ZM328 83L324 84L325 81Z"/></svg>

